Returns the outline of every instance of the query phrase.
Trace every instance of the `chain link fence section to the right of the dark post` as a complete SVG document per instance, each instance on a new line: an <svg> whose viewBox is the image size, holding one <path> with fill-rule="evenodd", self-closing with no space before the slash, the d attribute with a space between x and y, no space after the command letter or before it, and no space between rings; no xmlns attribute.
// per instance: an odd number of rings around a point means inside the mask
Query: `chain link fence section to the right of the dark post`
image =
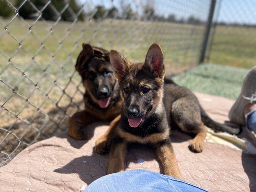
<svg viewBox="0 0 256 192"><path fill-rule="evenodd" d="M256 66L256 0L216 0L206 62Z"/></svg>

